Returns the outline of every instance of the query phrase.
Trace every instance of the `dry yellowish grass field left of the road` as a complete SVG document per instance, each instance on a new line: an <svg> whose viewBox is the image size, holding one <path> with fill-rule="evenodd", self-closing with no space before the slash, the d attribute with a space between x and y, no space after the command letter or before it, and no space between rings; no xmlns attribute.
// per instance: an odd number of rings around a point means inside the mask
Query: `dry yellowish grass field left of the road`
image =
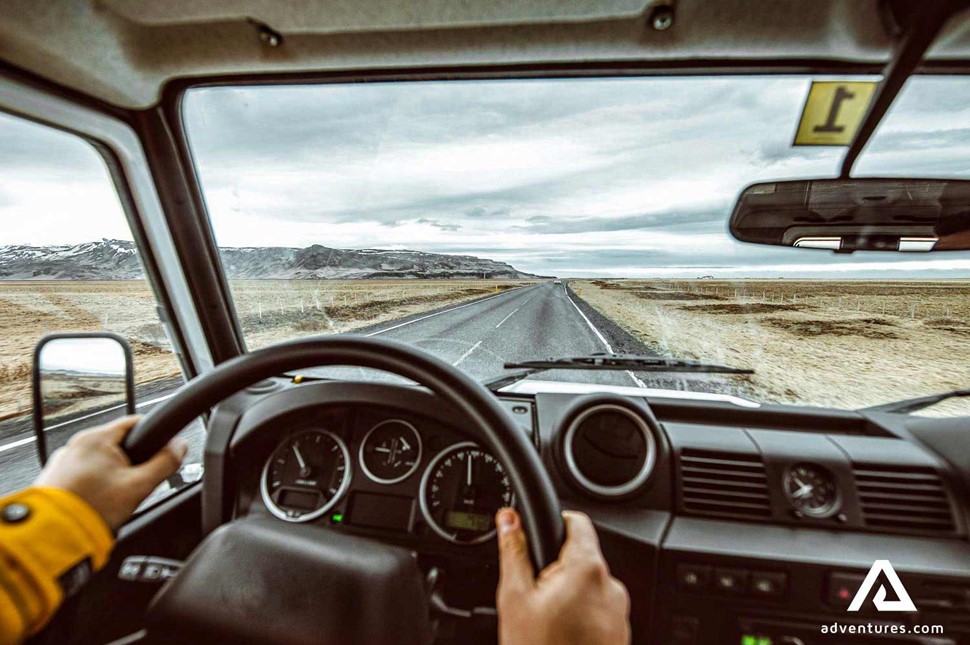
<svg viewBox="0 0 970 645"><path fill-rule="evenodd" d="M231 281L251 349L310 334L352 331L524 284L482 280ZM114 331L128 338L138 383L179 367L144 281L0 282L0 420L31 409L33 348L47 333Z"/></svg>

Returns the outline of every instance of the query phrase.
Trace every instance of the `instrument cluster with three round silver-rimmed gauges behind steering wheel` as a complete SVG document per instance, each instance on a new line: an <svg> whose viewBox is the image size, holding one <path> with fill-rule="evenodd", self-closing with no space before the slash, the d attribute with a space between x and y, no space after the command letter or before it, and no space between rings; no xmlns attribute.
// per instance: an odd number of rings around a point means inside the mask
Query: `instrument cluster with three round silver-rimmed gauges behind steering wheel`
<svg viewBox="0 0 970 645"><path fill-rule="evenodd" d="M346 412L298 424L266 457L260 501L287 522L329 520L473 545L515 503L505 466L437 423Z"/></svg>

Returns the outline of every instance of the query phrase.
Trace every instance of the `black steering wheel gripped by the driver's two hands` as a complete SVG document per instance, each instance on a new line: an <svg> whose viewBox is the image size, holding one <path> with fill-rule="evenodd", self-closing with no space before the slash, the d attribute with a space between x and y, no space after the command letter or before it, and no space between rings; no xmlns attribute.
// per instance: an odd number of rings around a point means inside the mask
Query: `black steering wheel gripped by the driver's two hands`
<svg viewBox="0 0 970 645"><path fill-rule="evenodd" d="M471 423L470 427L464 429L506 467L522 516L523 527L528 536L532 561L537 570L541 570L555 561L565 536L559 501L535 448L525 434L498 404L492 393L480 383L452 365L422 350L396 341L350 335L329 336L289 341L233 358L190 381L175 396L149 412L127 436L123 448L133 463L144 462L194 419L243 388L288 371L328 366L371 368L402 376L424 386L432 394L439 397L443 403L463 414ZM247 528L245 535L239 534L242 529L236 530L235 534L229 534L229 537L226 533L219 534L223 529L245 521L237 520L221 527L197 549L190 559L189 565L203 570L197 572L194 576L188 575L183 570L170 585L176 590L167 594L176 596L178 601L168 602L167 605L177 605L178 611L183 614L186 611L195 612L198 614L195 617L203 623L206 621L211 623L214 620L214 615L218 614L219 611L226 610L225 603L223 603L221 607L210 607L203 611L195 607L194 603L199 600L198 596L206 594L202 594L201 589L194 593L189 593L183 589L201 584L200 580L211 581L214 577L218 577L218 571L214 570L214 565L211 562L206 564L201 561L204 558L200 551L206 551L206 557L209 559L219 559L227 549L230 551L235 549L237 555L243 553L244 549L240 545L248 545L247 548L250 551L260 551L270 545L273 549L293 555L296 558L294 567L300 571L310 570L317 566L319 570L325 571L326 576L331 581L337 578L346 579L345 581L350 581L348 584L360 586L361 579L370 579L374 583L371 587L381 587L384 591L387 591L388 586L394 587L394 585L399 584L399 581L388 578L391 575L389 571L397 570L400 573L402 567L409 571L411 568L411 565L407 564L405 560L401 560L397 555L391 555L387 551L392 547L379 545L385 551L375 554L373 552L374 543L365 541L363 538L335 532L330 532L327 537L320 538L319 530L312 537L311 544L307 539L306 529L312 527L291 523L273 522L272 524L260 525L255 529ZM336 552L322 553L321 539L327 541L330 546L336 549ZM218 544L207 546L207 543L212 541L216 541ZM229 544L226 544L227 541ZM368 544L365 546L361 544L362 542L368 542ZM359 556L362 553L367 553L368 558L350 557L347 553L341 554L339 553L340 549L337 549L339 546L337 543L343 545L351 554ZM301 551L299 545L305 545L306 549ZM262 557L275 557L271 553L262 553L261 555ZM378 561L383 559L383 566L388 571L382 573L369 568L375 559ZM312 560L312 562L308 562L308 560ZM410 560L413 560L413 558L410 558ZM238 562L232 563L232 566L238 565ZM350 568L348 569L348 567ZM180 580L181 578L193 577L196 582L188 581L180 584L183 582ZM239 581L227 582L233 589L239 587ZM250 580L246 584L251 588L254 582ZM265 586L267 583L260 579L256 581L256 584ZM184 591L184 593L181 593L182 597L179 597L180 591ZM209 591L211 592L211 589ZM360 592L361 597L367 597L371 601L373 601L375 593L380 594L379 590L370 587L368 589L362 588ZM407 596L408 594L413 595L413 592L413 585L408 589L398 589L392 593L392 596L397 595L395 598L389 599L389 603L407 605L409 600ZM163 591L164 593L166 592ZM250 596L246 596L244 600L250 600ZM346 599L342 598L342 600L345 604ZM158 603L156 602L156 604ZM165 605L166 603L162 604ZM184 615L179 615L177 618L183 624L191 622ZM226 618L230 619L231 617ZM345 615L338 616L334 620L338 622L342 620L346 623L347 617ZM366 624L373 626L374 618L370 617ZM211 626L209 625L206 629L211 628ZM317 625L316 627L324 626ZM392 626L385 627L395 629ZM398 631L396 636L401 636L401 632ZM378 636L340 642L371 643L381 641ZM395 642L403 641L396 638Z"/></svg>

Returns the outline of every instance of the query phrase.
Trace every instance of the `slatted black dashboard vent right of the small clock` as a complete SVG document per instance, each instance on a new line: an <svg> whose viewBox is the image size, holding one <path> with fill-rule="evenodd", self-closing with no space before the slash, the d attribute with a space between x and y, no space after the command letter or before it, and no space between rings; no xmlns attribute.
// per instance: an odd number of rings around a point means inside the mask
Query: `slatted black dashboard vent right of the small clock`
<svg viewBox="0 0 970 645"><path fill-rule="evenodd" d="M856 464L856 488L866 526L906 533L953 533L950 500L931 468Z"/></svg>

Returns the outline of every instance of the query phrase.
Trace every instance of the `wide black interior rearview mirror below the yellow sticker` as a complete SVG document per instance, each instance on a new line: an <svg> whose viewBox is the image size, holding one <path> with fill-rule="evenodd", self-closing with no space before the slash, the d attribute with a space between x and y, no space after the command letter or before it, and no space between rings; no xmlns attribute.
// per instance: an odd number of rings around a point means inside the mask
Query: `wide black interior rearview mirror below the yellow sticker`
<svg viewBox="0 0 970 645"><path fill-rule="evenodd" d="M731 214L742 242L853 251L970 249L970 181L811 179L753 184Z"/></svg>

